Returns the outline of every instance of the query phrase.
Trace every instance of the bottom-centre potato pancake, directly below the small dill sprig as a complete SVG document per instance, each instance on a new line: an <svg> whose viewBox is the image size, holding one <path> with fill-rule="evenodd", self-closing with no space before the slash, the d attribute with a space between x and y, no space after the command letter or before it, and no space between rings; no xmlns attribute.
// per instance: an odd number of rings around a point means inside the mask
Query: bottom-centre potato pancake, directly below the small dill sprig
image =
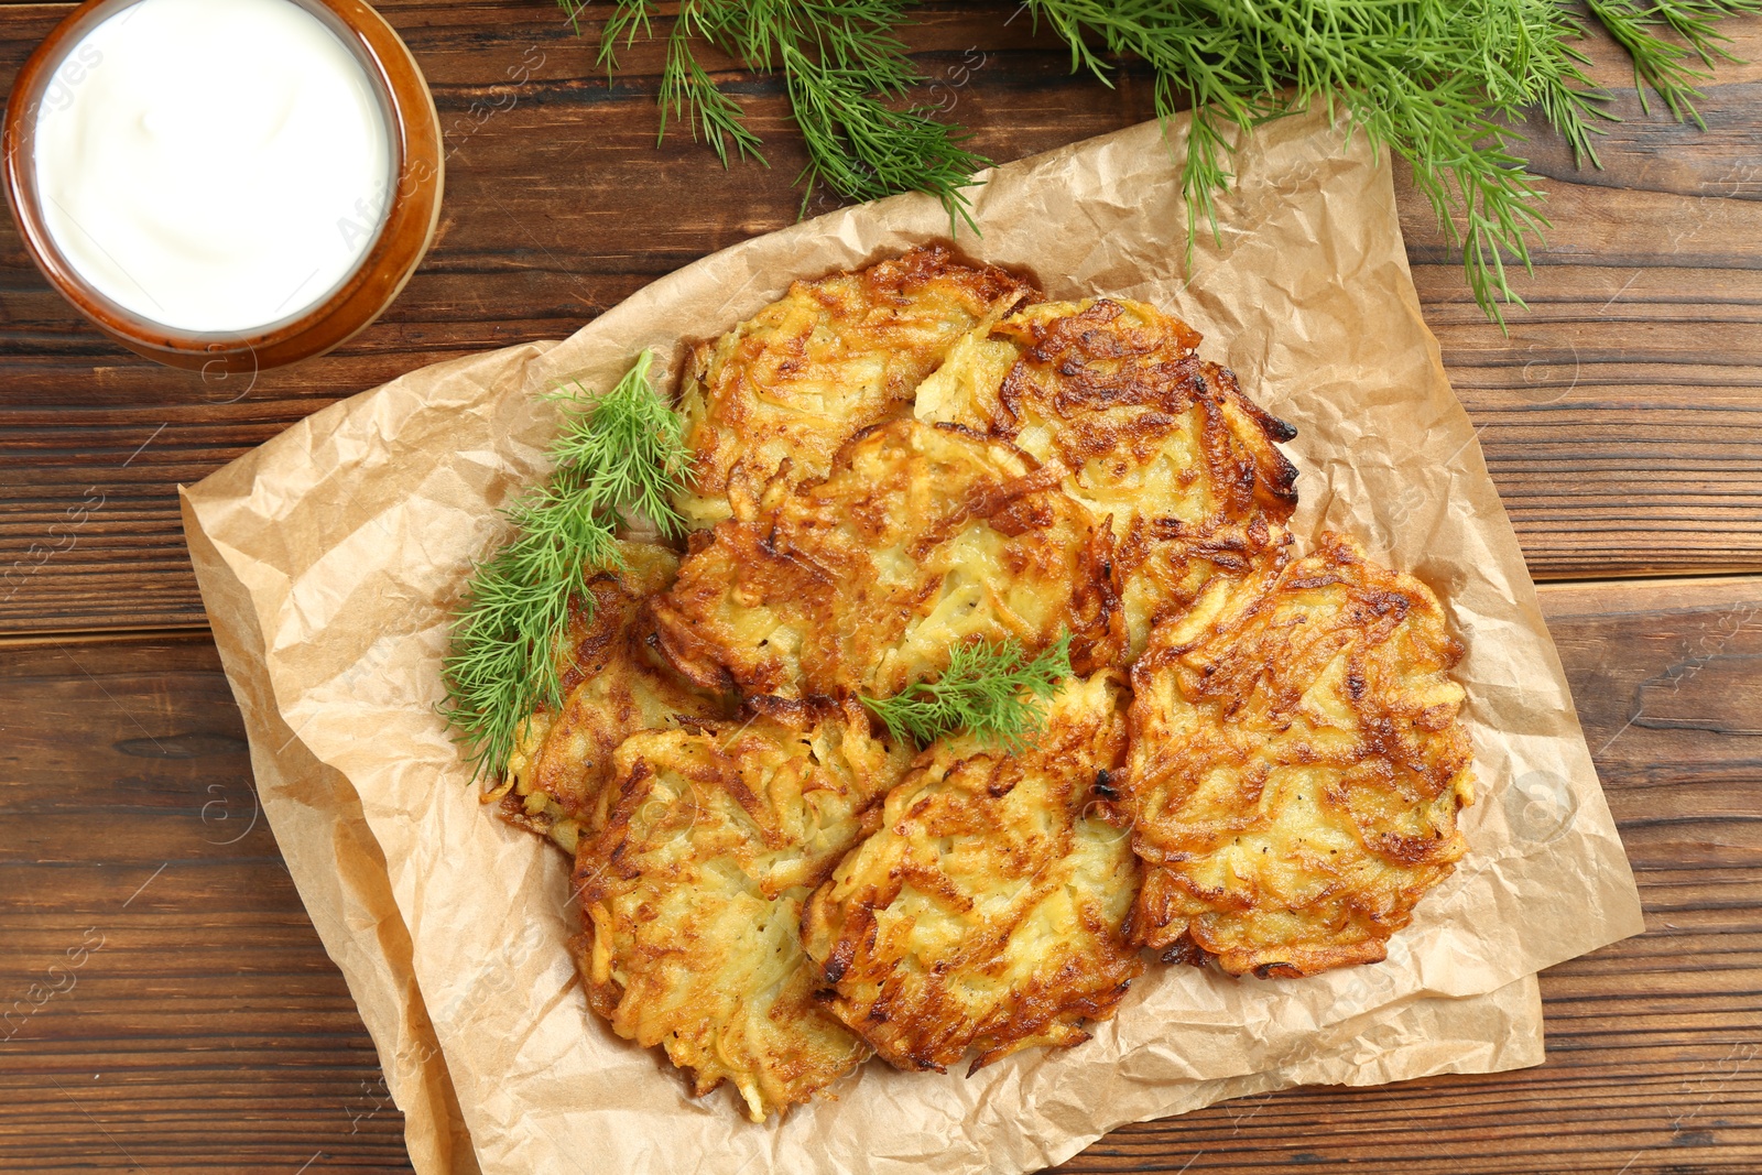
<svg viewBox="0 0 1762 1175"><path fill-rule="evenodd" d="M1027 750L934 743L807 905L828 1006L902 1069L1089 1039L1142 971L1129 837L1096 809L1126 756L1117 671L1071 678Z"/></svg>

